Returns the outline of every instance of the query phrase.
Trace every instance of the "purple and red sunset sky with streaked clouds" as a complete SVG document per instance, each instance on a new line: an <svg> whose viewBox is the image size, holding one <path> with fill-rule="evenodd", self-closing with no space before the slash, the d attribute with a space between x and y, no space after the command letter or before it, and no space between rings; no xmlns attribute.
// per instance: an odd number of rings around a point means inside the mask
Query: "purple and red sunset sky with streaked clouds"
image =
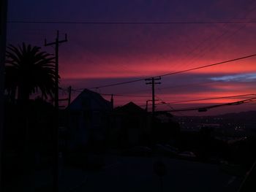
<svg viewBox="0 0 256 192"><path fill-rule="evenodd" d="M8 20L68 22L8 23L7 43L26 42L54 53L53 47L44 47L44 39L54 41L56 30L61 39L67 33L68 42L60 46L59 68L61 88L71 85L75 89L73 99L83 88L161 76L256 54L256 23L214 23L256 21L256 1L252 0L9 0ZM256 93L256 57L165 76L160 82L156 85L157 102ZM107 94L104 97L108 100L108 94L116 94L116 106L134 101L145 107L146 100L151 99L151 87L145 81L91 90ZM67 93L60 91L60 97L67 97ZM250 97L161 104L156 109L208 106ZM220 107L203 115L255 107L255 103Z"/></svg>

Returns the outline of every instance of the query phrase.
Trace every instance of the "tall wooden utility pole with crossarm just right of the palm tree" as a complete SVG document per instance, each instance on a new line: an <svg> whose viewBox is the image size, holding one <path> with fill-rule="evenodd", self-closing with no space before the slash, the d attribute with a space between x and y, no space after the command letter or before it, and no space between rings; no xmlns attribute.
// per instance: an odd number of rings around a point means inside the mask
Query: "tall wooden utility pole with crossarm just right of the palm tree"
<svg viewBox="0 0 256 192"><path fill-rule="evenodd" d="M64 40L59 40L59 30L55 42L47 43L45 39L45 46L55 45L55 94L54 94L54 106L56 110L56 128L54 137L55 141L55 153L53 155L53 191L59 191L59 45L63 42L67 42L67 34L65 34Z"/></svg>

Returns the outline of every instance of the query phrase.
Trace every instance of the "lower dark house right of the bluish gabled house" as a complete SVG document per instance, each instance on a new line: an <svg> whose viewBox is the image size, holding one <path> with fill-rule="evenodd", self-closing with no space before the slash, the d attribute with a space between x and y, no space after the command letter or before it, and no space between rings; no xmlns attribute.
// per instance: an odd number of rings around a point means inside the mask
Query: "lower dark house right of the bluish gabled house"
<svg viewBox="0 0 256 192"><path fill-rule="evenodd" d="M108 141L116 147L147 145L151 137L151 116L133 102L116 107L111 115Z"/></svg>

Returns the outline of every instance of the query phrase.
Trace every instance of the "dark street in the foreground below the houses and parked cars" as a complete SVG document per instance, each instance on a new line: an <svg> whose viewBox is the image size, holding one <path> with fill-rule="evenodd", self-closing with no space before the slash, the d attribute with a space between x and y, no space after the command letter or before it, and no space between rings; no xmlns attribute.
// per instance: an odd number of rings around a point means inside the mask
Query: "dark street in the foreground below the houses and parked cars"
<svg viewBox="0 0 256 192"><path fill-rule="evenodd" d="M242 176L230 174L217 164L204 164L160 157L106 155L100 169L62 166L60 191L238 191ZM154 162L162 161L167 174L154 172ZM7 191L51 191L50 169L20 177Z"/></svg>

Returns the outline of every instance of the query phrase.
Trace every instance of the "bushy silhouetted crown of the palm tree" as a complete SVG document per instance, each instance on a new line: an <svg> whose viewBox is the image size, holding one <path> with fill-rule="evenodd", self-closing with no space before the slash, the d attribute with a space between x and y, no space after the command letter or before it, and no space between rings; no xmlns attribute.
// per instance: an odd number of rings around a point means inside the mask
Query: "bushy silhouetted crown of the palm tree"
<svg viewBox="0 0 256 192"><path fill-rule="evenodd" d="M30 94L38 90L45 98L53 97L55 57L40 49L25 43L7 47L5 88L12 95L18 90L18 100L29 100Z"/></svg>

